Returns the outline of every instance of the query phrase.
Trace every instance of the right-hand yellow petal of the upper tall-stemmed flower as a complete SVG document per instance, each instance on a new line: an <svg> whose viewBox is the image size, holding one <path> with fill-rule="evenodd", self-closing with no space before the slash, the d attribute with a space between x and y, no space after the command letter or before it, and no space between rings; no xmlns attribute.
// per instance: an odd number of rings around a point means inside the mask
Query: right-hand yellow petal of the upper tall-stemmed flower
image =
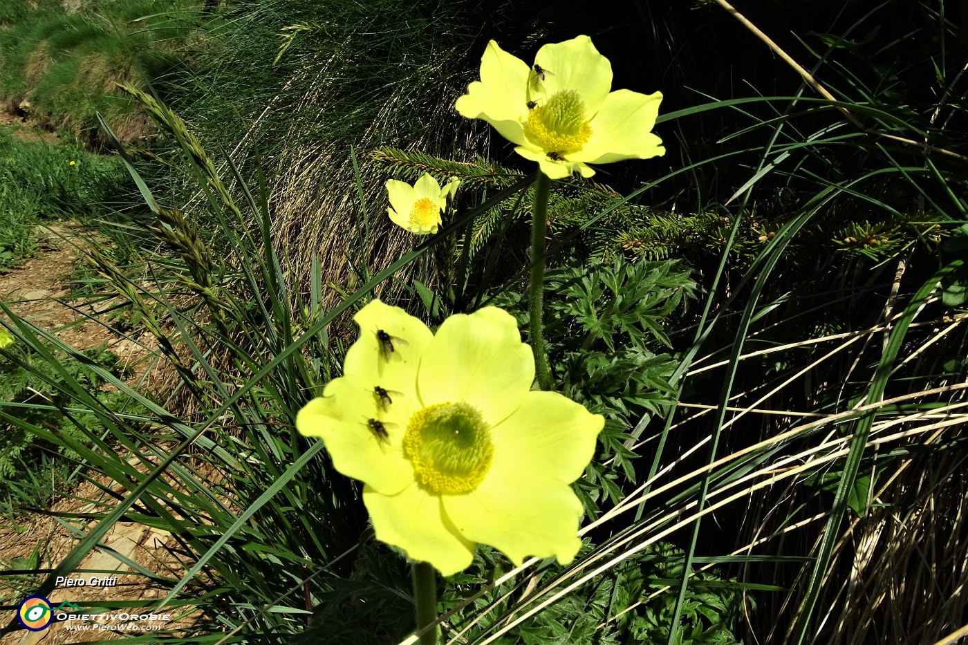
<svg viewBox="0 0 968 645"><path fill-rule="evenodd" d="M662 139L651 133L662 94L631 90L612 92L591 119L591 138L570 158L590 164L649 159L665 154Z"/></svg>

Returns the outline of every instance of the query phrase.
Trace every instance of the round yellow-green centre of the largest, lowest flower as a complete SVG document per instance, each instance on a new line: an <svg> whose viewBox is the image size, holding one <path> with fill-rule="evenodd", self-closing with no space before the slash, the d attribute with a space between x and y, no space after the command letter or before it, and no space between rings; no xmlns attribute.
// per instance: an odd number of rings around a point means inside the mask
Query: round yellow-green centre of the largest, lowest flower
<svg viewBox="0 0 968 645"><path fill-rule="evenodd" d="M428 406L410 417L404 455L417 482L434 493L469 493L491 468L491 428L467 403Z"/></svg>

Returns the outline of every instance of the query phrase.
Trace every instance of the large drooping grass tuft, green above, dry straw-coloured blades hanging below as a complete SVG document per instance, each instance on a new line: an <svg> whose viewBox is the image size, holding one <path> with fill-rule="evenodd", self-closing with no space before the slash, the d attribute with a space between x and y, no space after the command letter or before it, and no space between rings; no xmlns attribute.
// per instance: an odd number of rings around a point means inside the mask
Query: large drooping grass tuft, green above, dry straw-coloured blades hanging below
<svg viewBox="0 0 968 645"><path fill-rule="evenodd" d="M474 158L469 141L489 135L452 109L470 79L460 71L480 59L482 20L493 25L513 6L478 15L446 2L243 0L227 12L218 45L199 56L199 91L172 105L206 143L239 141L258 158L273 186L287 270L306 284L313 258L323 258L323 303L332 306L340 289L352 291L413 247L385 217L386 174L369 152L392 146ZM291 35L285 51L281 34ZM371 204L366 212L362 200ZM360 244L364 233L371 244ZM385 289L403 294L395 284Z"/></svg>

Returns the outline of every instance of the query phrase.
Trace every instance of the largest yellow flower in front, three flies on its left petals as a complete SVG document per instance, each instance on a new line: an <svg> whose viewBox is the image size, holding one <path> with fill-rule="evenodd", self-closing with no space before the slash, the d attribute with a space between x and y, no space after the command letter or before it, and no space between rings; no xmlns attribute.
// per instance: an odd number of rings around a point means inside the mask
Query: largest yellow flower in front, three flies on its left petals
<svg viewBox="0 0 968 645"><path fill-rule="evenodd" d="M520 565L581 540L568 485L585 472L604 418L557 392L531 390L534 359L518 325L486 307L435 335L375 300L344 376L296 416L340 473L362 480L378 539L444 575L467 568L475 542Z"/></svg>

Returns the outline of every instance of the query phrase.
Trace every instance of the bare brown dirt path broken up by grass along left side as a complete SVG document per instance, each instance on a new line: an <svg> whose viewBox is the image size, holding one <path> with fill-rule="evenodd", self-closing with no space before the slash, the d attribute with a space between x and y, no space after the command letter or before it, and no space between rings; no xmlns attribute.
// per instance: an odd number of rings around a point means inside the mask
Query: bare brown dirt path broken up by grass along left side
<svg viewBox="0 0 968 645"><path fill-rule="evenodd" d="M146 340L138 341L121 338L114 330L98 317L97 304L90 304L83 299L71 297L69 281L78 264L80 249L86 247L85 236L91 234L76 224L62 223L51 226L45 235L45 240L39 243L37 256L23 265L0 275L0 300L14 311L15 315L23 318L52 333L63 342L77 350L107 345L119 358L132 368L129 383L136 383L144 375L147 362L143 359L148 353L139 346ZM101 322L99 322L101 321ZM0 428L2 429L2 428ZM99 482L121 492L118 484L104 476L93 475ZM112 506L112 498L97 486L85 482L75 490L70 491L74 497L91 501L104 500L106 506ZM55 512L90 513L104 512L104 508L96 503L82 503L76 499L62 498L51 507ZM77 520L73 521L77 524ZM81 522L81 524L83 524ZM116 611L136 613L147 609L153 599L163 596L161 589L144 585L140 575L125 576L125 571L131 569L123 563L127 558L149 570L166 577L172 575L172 563L165 546L169 535L160 530L150 529L134 523L119 522L104 539L104 547L96 549L82 563L81 569L100 569L99 573L78 573L77 578L89 580L90 576L99 578L116 578L117 586L79 586L75 588L61 587L50 596L50 604L70 601L81 607L89 607L94 603L110 607L113 601L145 600L143 608L126 606L124 609L95 609L93 611ZM76 533L72 532L54 517L44 513L32 513L15 519L0 520L0 568L18 568L15 564L27 562L33 554L39 557L36 568L49 569L58 562L76 544ZM28 559L28 560L23 560ZM180 570L174 567L173 570ZM117 571L118 575L110 573ZM0 603L4 605L18 604L26 596L32 594L45 575L24 574L19 576L0 577ZM14 612L0 612L0 627L5 626L14 617ZM170 629L174 623L159 623L160 627ZM79 625L79 621L75 625ZM99 640L121 638L118 633L109 630L86 629L68 630L67 624L53 624L42 631L16 631L0 638L3 645L61 645L63 643L87 643ZM179 626L185 626L181 621ZM143 631L128 631L135 635Z"/></svg>

